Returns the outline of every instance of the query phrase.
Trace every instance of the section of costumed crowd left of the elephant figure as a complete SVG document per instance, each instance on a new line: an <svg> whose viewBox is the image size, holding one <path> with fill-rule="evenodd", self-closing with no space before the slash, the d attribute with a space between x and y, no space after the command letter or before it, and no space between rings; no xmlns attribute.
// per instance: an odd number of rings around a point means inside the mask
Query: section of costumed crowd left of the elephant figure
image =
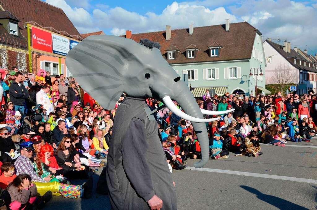
<svg viewBox="0 0 317 210"><path fill-rule="evenodd" d="M106 165L116 108L100 107L74 78L16 67L0 69L0 101L0 209L42 209L52 195L91 198L88 174Z"/></svg>

